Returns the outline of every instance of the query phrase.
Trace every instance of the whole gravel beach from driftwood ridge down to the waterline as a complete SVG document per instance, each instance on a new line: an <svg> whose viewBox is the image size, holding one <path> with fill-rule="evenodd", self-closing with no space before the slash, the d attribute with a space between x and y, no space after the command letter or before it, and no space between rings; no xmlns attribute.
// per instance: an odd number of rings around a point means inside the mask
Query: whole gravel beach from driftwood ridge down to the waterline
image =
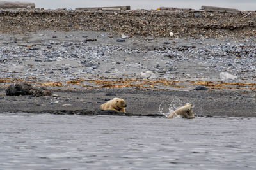
<svg viewBox="0 0 256 170"><path fill-rule="evenodd" d="M120 97L126 115L163 116L192 103L197 116L255 117L255 12L245 13L0 11L0 111L111 115L99 106ZM108 29L85 26L113 16ZM155 17L163 24L150 24ZM52 96L6 96L14 82L42 85Z"/></svg>

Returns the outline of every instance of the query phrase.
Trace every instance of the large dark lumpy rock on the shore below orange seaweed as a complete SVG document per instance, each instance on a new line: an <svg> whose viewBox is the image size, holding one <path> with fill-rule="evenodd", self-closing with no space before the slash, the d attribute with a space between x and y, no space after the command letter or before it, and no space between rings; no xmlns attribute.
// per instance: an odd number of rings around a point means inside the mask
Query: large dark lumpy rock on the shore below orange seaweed
<svg viewBox="0 0 256 170"><path fill-rule="evenodd" d="M7 96L35 95L35 96L51 96L52 92L45 87L36 87L28 83L14 83L6 89Z"/></svg>

